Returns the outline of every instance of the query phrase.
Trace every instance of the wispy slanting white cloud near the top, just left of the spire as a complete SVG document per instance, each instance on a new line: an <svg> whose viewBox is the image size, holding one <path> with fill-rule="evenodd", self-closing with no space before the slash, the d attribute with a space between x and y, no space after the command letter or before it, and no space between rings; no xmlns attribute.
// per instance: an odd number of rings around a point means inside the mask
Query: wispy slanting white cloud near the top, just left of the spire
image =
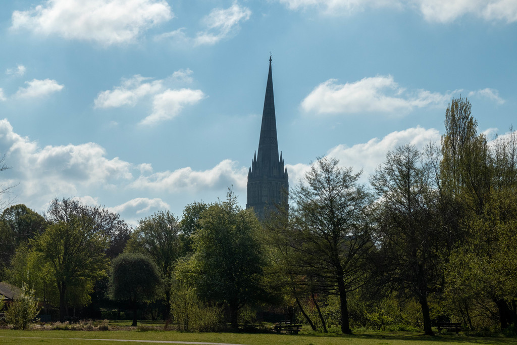
<svg viewBox="0 0 517 345"><path fill-rule="evenodd" d="M208 16L202 19L206 29L198 32L195 37L185 34L185 28L179 28L169 33L157 36L157 39L172 39L178 46L184 44L192 46L213 45L219 41L235 35L239 29L239 24L250 19L251 10L241 7L234 3L226 9L215 8Z"/></svg>

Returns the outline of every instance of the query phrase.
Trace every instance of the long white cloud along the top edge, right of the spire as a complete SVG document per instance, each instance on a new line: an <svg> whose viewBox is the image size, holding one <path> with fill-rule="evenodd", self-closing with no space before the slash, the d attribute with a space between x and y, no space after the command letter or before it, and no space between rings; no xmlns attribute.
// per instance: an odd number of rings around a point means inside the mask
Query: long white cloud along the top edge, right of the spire
<svg viewBox="0 0 517 345"><path fill-rule="evenodd" d="M486 21L517 21L514 0L279 0L291 10L317 10L330 16L349 15L367 8L417 9L430 22L448 23L466 15Z"/></svg>

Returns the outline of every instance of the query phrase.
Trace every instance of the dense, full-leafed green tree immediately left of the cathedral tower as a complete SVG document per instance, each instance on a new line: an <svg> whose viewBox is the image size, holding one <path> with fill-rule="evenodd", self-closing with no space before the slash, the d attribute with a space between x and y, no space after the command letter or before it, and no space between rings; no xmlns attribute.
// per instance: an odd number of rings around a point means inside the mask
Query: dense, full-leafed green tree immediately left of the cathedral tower
<svg viewBox="0 0 517 345"><path fill-rule="evenodd" d="M232 191L226 201L210 205L201 216L190 261L191 283L202 298L227 307L232 327L238 310L262 294L264 252L260 223L250 209L237 205Z"/></svg>

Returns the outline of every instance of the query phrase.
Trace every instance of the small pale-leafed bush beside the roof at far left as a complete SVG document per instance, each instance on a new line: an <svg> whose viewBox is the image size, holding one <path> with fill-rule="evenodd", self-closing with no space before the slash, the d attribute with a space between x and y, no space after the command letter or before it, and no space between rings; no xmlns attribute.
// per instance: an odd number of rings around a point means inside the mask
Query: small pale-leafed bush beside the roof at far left
<svg viewBox="0 0 517 345"><path fill-rule="evenodd" d="M25 329L38 314L38 300L34 295L34 290L29 289L23 283L22 292L19 297L7 308L5 312L7 322L13 324L14 329Z"/></svg>

